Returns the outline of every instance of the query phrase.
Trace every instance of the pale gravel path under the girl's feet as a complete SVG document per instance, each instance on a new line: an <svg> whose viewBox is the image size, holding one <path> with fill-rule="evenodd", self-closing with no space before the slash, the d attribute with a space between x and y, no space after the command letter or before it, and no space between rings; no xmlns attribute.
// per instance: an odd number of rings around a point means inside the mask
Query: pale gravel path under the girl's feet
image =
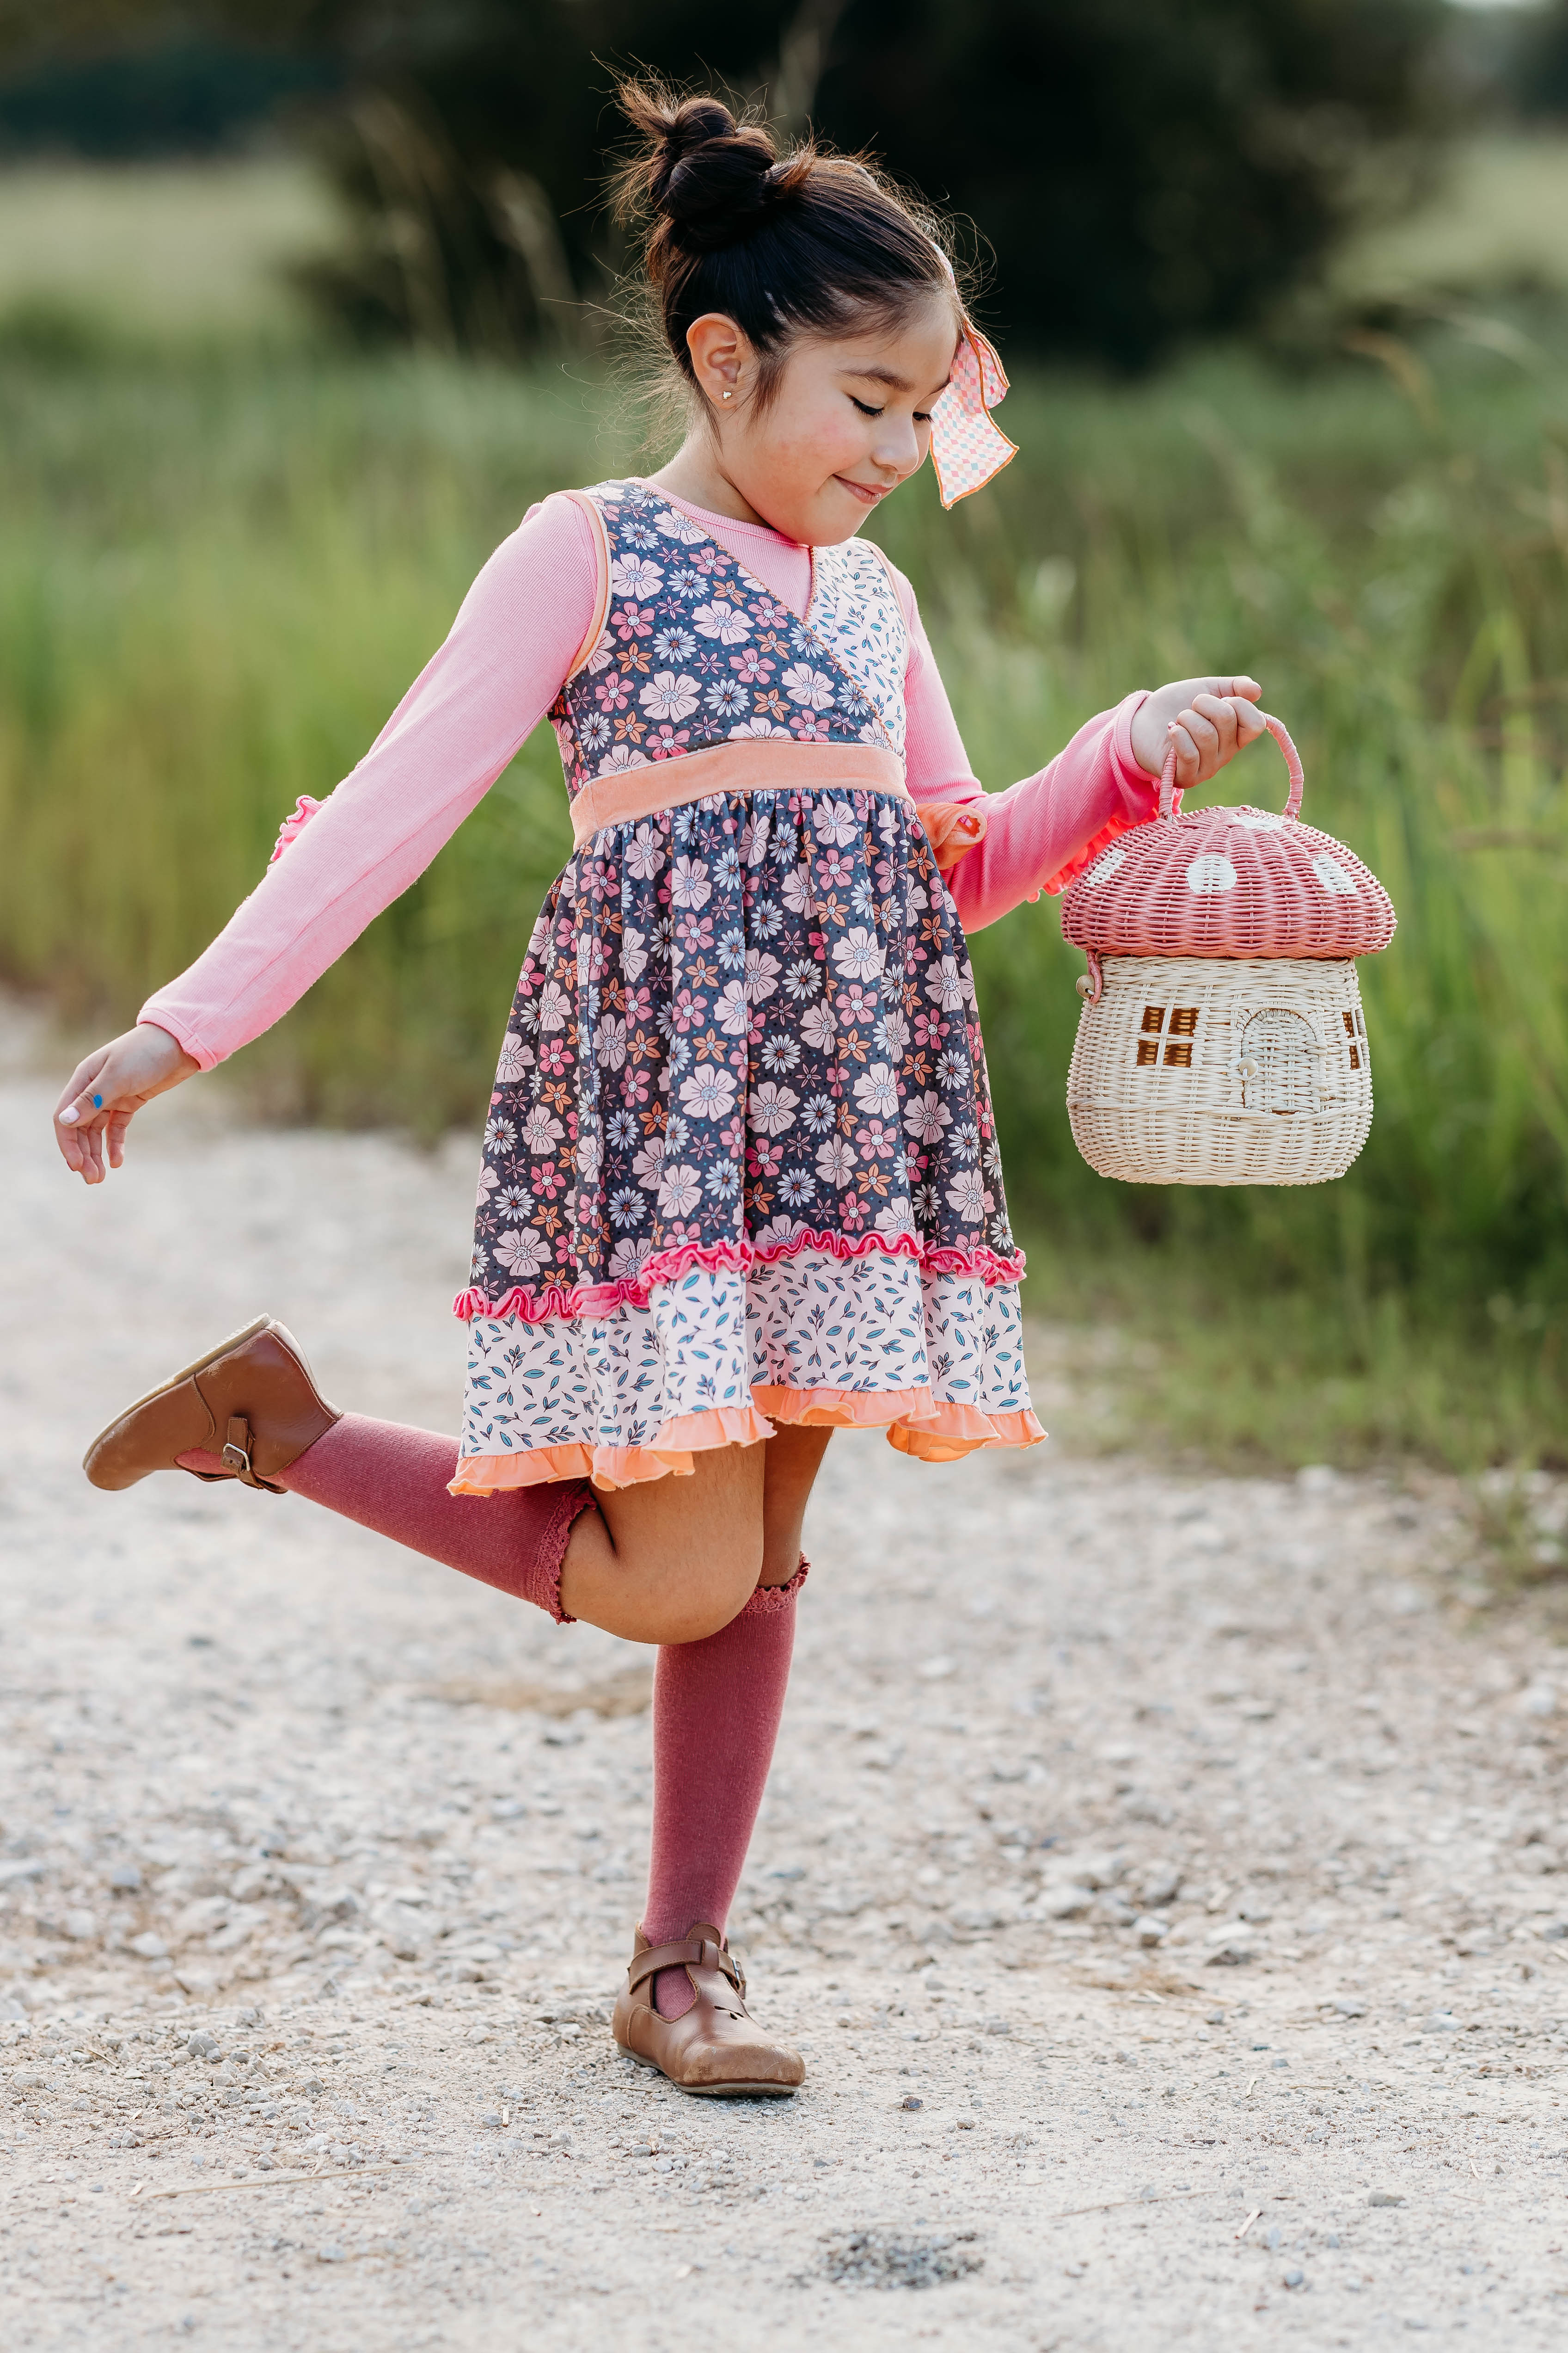
<svg viewBox="0 0 1568 2353"><path fill-rule="evenodd" d="M259 1308L451 1426L470 1151L193 1089L82 1195L9 1045L12 2344L1556 2341L1568 1666L1467 1607L1455 1497L837 1438L733 1922L811 2078L686 2101L607 2033L646 1652L78 1473Z"/></svg>

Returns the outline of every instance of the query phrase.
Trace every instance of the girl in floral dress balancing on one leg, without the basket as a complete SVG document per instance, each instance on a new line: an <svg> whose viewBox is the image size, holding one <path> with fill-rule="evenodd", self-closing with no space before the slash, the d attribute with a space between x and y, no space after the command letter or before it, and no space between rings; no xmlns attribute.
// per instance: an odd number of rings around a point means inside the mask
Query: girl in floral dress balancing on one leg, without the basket
<svg viewBox="0 0 1568 2353"><path fill-rule="evenodd" d="M287 1489L656 1642L649 1897L616 2040L686 2092L783 2094L724 1944L835 1428L1025 1447L1018 1278L964 925L1060 889L1258 732L1248 678L969 774L910 584L856 536L936 452L1013 454L940 228L860 162L628 87L689 431L531 508L339 791L59 1108L87 1184L132 1115L256 1038L428 866L548 711L576 854L534 925L480 1169L463 1435L327 1405L270 1318L127 1407L99 1487Z"/></svg>

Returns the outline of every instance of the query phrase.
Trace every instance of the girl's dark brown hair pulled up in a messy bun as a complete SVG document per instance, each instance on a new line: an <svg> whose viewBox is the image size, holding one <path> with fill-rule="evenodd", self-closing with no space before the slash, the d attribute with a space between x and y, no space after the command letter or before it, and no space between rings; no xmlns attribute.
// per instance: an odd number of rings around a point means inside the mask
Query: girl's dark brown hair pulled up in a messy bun
<svg viewBox="0 0 1568 2353"><path fill-rule="evenodd" d="M616 212L644 231L646 292L686 386L686 329L708 311L733 318L757 351L757 407L804 334L891 327L940 292L957 327L943 221L865 158L813 141L780 155L762 122L651 80L621 82L616 96L639 134L616 174Z"/></svg>

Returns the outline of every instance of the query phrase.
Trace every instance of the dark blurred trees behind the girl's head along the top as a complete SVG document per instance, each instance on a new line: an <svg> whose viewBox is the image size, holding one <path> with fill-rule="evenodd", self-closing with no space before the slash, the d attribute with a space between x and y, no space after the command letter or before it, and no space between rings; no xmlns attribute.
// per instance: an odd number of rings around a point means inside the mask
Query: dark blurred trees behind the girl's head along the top
<svg viewBox="0 0 1568 2353"><path fill-rule="evenodd" d="M12 0L0 141L216 146L280 104L360 233L320 273L364 332L578 339L621 252L614 66L809 122L983 228L1009 348L1147 367L1244 329L1425 186L1441 0ZM592 320L592 311L588 313Z"/></svg>

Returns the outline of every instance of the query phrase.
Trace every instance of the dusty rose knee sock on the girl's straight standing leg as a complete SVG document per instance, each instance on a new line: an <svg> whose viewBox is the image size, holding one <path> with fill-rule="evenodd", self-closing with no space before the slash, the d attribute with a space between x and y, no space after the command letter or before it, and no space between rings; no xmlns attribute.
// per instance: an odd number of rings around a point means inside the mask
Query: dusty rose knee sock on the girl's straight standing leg
<svg viewBox="0 0 1568 2353"><path fill-rule="evenodd" d="M788 1586L757 1586L722 1633L658 1652L649 1944L675 1944L698 1920L724 1932L773 1762L804 1577L802 1560ZM656 2002L665 2019L691 2007L684 1969L658 1972Z"/></svg>

